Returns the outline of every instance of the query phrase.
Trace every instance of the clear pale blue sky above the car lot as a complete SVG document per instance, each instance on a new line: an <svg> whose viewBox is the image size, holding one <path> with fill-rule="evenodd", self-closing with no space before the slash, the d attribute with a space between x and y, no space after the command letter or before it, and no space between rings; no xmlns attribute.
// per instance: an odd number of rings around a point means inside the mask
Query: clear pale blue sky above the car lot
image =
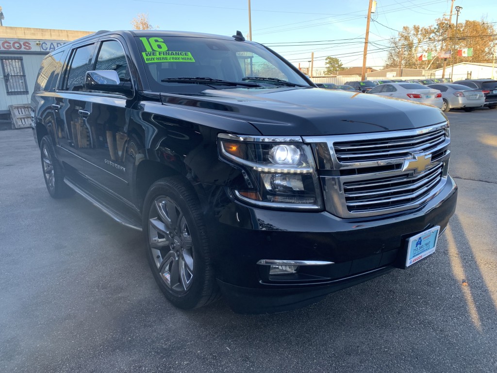
<svg viewBox="0 0 497 373"><path fill-rule="evenodd" d="M42 5L45 4L45 5ZM84 4L84 5L83 5ZM251 0L252 40L265 44L296 66L324 67L327 56L345 67L362 66L369 0ZM370 25L367 66L381 69L388 39L404 25L428 26L450 12L451 0L377 0ZM497 22L497 0L455 0L466 19ZM131 29L138 13L163 30L248 35L248 0L0 0L4 26L83 31ZM455 23L455 11L452 21ZM1 37L1 30L0 30Z"/></svg>

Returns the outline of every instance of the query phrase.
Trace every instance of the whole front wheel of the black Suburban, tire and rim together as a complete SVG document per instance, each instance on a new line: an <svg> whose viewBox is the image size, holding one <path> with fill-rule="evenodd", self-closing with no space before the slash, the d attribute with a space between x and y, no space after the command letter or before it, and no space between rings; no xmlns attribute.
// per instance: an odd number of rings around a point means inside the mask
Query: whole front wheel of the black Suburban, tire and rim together
<svg viewBox="0 0 497 373"><path fill-rule="evenodd" d="M180 177L155 182L143 207L147 258L154 278L176 307L202 307L220 296L202 209Z"/></svg>

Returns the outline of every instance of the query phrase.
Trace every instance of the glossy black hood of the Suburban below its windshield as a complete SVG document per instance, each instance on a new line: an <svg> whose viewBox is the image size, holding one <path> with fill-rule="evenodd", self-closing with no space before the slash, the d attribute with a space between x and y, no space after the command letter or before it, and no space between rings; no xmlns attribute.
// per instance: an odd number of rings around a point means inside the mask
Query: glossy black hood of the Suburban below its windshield
<svg viewBox="0 0 497 373"><path fill-rule="evenodd" d="M445 121L435 107L367 93L315 88L161 93L163 104L242 119L262 135L320 136L403 130Z"/></svg>

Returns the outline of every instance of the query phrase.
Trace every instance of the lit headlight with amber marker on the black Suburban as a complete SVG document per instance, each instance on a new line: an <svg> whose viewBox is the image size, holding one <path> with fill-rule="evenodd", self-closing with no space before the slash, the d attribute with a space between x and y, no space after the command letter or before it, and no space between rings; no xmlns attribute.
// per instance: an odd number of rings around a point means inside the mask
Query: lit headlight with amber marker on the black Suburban
<svg viewBox="0 0 497 373"><path fill-rule="evenodd" d="M312 151L309 145L297 142L300 138L227 134L218 138L221 157L241 169L243 180L232 188L238 199L266 207L322 208Z"/></svg>

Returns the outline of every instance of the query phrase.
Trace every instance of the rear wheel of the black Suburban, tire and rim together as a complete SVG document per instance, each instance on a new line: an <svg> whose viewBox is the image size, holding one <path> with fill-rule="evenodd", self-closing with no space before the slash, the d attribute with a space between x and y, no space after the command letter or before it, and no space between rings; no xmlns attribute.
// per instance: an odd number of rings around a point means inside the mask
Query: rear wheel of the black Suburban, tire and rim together
<svg viewBox="0 0 497 373"><path fill-rule="evenodd" d="M73 194L73 189L64 183L64 171L57 161L50 136L46 135L40 142L41 167L48 193L53 198L64 198Z"/></svg>

